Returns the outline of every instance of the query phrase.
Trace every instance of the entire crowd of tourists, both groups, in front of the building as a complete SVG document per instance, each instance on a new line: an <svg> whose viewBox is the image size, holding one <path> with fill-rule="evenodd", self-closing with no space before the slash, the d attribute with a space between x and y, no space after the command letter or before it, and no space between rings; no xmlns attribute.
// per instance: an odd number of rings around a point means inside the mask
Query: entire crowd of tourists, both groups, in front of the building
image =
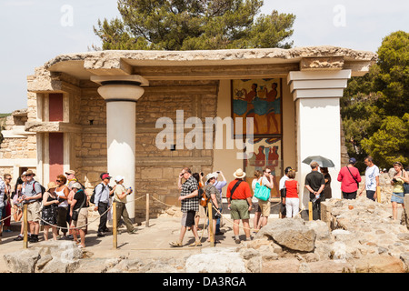
<svg viewBox="0 0 409 291"><path fill-rule="evenodd" d="M342 198L355 199L365 192L368 199L376 201L381 171L374 165L374 159L367 156L364 159L365 183L360 187L361 176L355 167L356 162L354 157L351 158L348 165L342 167L338 173L337 181L341 182ZM313 161L310 166L311 172L305 176L304 186L309 192L312 216L316 220L321 217L321 202L332 197L332 179L328 168L319 166L318 162ZM394 163L393 166L391 202L393 218L397 219L397 205L404 206L404 194L409 192L409 175L400 162ZM216 237L223 235L220 231L220 218L223 211L224 186L227 186L226 199L234 223L235 243L241 242L240 223L243 225L245 240L252 239L252 230L256 233L261 227L267 225L272 207L270 196L274 188L271 169L266 167L263 171L254 171L251 183L246 183L248 179L245 179L246 173L241 168L237 169L233 176L234 180L227 183L221 171L205 176L203 173L192 173L188 167L182 169L178 177L178 188L183 217L179 238L176 242L171 242L171 246L183 246L187 230L191 230L195 236L195 242L190 246L202 246L198 233L199 218L203 215L207 216L209 209L207 202L203 204L201 200L209 201L212 207L213 234L208 234L208 241L213 235L214 243L220 243ZM278 191L281 197L279 212L283 218L299 216L301 213L299 198L301 189L295 176L296 171L287 166L279 182ZM126 197L132 193L132 189L124 186L123 176L115 177L115 186L110 185L112 177L108 173L101 174L100 178L101 182L95 186L94 193L89 199L85 194L85 186L78 181L73 170L65 172L65 175L56 176L55 181L48 183L46 188L35 181L35 173L31 170L25 171L18 177L14 187L11 186L12 176L5 174L0 177L0 216L2 217L0 233L11 231L10 221L13 217L15 222L21 221L20 234L15 237L15 240L24 239L25 225L22 209L27 205L26 227L29 242L39 241L40 226L43 226L44 240L48 240L51 230L54 240L74 240L78 247L85 247L90 203L94 204L93 210L100 216L97 236L102 237L109 232L106 223L108 211L114 200L116 221L122 217L127 232L134 234L135 227L125 207L128 202ZM254 213L253 227L250 226L250 213Z"/></svg>

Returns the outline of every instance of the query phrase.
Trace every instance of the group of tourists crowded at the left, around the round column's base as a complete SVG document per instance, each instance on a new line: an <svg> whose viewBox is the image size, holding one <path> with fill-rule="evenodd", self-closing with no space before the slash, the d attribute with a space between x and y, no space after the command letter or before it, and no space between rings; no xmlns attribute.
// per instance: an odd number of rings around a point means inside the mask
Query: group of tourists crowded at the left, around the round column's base
<svg viewBox="0 0 409 291"><path fill-rule="evenodd" d="M112 200L116 202L117 221L122 217L128 233L133 234L135 228L125 207L126 196L132 193L132 189L125 189L123 176L116 176L116 185L109 186L111 178L108 173L103 173L101 183L95 186L94 210L100 214L97 236L106 236L109 231L106 221ZM85 186L78 181L75 171L69 170L65 175L56 176L55 181L48 183L46 188L35 181L35 173L31 170L17 178L14 189L10 185L11 180L12 176L9 174L5 174L4 178L0 177L3 231L11 231L8 227L13 216L15 222L21 221L20 234L14 240L24 239L23 206L27 205L26 221L30 243L40 240L40 226L43 226L45 241L49 239L51 230L53 240L73 240L78 247L85 247L90 201L85 194Z"/></svg>

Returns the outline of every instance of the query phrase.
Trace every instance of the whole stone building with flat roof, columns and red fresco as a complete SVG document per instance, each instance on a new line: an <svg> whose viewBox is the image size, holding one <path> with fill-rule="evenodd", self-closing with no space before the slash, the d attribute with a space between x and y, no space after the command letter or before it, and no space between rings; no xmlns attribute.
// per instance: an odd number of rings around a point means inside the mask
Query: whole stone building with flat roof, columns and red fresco
<svg viewBox="0 0 409 291"><path fill-rule="evenodd" d="M336 177L340 98L348 79L366 74L376 57L334 46L58 55L28 76L28 108L3 132L0 171L16 177L30 168L46 185L74 169L90 188L106 171L125 176L132 197L149 193L167 205L178 205L184 166L223 171L228 180L243 168L250 183L267 166L276 188L292 166L304 188L306 156L330 158ZM221 122L222 134L213 126ZM145 211L143 203L128 204L131 216Z"/></svg>

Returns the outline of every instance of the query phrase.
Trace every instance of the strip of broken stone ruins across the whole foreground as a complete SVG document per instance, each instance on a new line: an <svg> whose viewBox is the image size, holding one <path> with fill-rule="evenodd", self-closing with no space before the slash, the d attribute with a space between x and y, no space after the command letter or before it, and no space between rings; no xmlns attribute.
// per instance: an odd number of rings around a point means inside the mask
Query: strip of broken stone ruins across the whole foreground
<svg viewBox="0 0 409 291"><path fill-rule="evenodd" d="M4 258L11 272L29 273L408 272L409 231L392 219L387 205L360 196L331 199L322 206L323 220L272 219L252 241L237 247L205 247L193 256L145 261L120 256L101 264L101 259L93 260L83 251L65 263L59 259L65 249L50 245Z"/></svg>

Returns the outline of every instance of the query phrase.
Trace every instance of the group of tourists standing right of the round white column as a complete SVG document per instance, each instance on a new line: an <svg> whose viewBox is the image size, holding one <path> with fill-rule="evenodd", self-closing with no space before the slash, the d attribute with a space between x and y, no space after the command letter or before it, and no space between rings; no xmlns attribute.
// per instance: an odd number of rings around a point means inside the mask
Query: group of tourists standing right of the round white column
<svg viewBox="0 0 409 291"><path fill-rule="evenodd" d="M371 156L365 157L365 183L360 187L361 176L355 164L356 159L353 157L349 160L348 165L342 167L338 173L337 181L341 182L342 198L355 199L356 196L362 196L365 191L368 199L376 201L376 189L379 186L381 171L378 166L374 165L374 159ZM313 161L310 166L311 172L305 176L304 186L309 192L313 219L317 220L321 217L321 202L332 198L332 178L328 168L319 166L318 162ZM395 174L391 181L394 188L391 202L393 218L397 219L397 205L401 204L404 206L404 194L408 193L409 176L408 172L404 171L404 166L400 162L394 163L393 166ZM385 170L383 171L385 172ZM227 184L223 176L224 185L220 188L214 186L219 183L217 180L218 173L221 172L214 172L205 176L205 183L202 181L203 174L192 173L188 167L185 167L180 173L178 187L180 190L181 211L183 213L182 226L178 240L171 242L170 246L184 246L183 240L187 229L192 229L195 236L195 243L190 246L202 246L197 233L198 224L197 221L195 222L195 217L203 213L204 207L199 203L200 199L205 199L202 195L205 195L212 202L214 224L217 219L220 219L223 207L222 187ZM246 173L242 169L237 169L233 176L234 180L227 185L226 199L230 217L234 223L234 241L236 244L239 244L241 242L239 236L240 222L243 225L245 240L252 239L252 230L253 233L256 233L261 227L267 225L271 209L270 196L265 198L262 192L271 194L271 190L274 188L274 176L272 176L272 171L268 167L264 168L263 172L255 170L251 183L253 191L251 191L249 183L243 183L248 180L245 179ZM287 166L284 169L284 176L280 179L278 189L281 197L279 212L282 218L299 216L301 213L300 186L295 176L296 171L291 166ZM253 227L250 226L250 213L252 211L254 212ZM213 228L215 230L215 225ZM216 238L217 235L222 235L220 230L214 231L215 243L219 243Z"/></svg>

